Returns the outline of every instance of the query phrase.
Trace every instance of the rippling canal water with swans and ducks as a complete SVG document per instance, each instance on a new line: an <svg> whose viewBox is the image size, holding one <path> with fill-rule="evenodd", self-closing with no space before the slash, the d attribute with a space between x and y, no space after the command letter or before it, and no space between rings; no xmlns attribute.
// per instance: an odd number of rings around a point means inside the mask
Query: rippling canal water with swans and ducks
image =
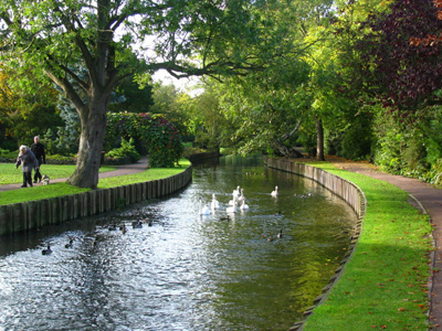
<svg viewBox="0 0 442 331"><path fill-rule="evenodd" d="M225 220L238 185L249 210ZM199 215L212 194L220 207ZM355 221L313 181L224 157L168 199L0 238L0 331L287 330L334 274Z"/></svg>

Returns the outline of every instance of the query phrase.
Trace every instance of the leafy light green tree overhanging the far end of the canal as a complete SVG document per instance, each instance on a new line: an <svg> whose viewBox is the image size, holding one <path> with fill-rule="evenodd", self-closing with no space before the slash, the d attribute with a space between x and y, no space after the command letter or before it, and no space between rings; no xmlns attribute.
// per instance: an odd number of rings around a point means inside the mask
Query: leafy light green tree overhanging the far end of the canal
<svg viewBox="0 0 442 331"><path fill-rule="evenodd" d="M297 157L294 146L309 107L303 83L308 65L290 61L217 88L220 109L231 124L238 152ZM228 131L229 132L229 131Z"/></svg>

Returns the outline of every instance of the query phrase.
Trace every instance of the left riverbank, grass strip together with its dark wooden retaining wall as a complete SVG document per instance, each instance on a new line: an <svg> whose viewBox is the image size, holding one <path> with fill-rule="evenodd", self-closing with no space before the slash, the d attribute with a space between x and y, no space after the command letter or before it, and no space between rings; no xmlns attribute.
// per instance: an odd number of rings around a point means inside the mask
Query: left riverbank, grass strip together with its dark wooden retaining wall
<svg viewBox="0 0 442 331"><path fill-rule="evenodd" d="M136 174L134 169L126 168L107 172L109 178L101 181L98 190L72 188L61 182L4 191L0 199L4 203L0 205L0 235L36 229L44 225L98 215L128 204L167 196L185 188L192 178L189 164L175 169L175 173L159 169L162 175L155 179L147 174L155 171L146 171L147 160L145 164L138 164L138 168ZM67 188L73 191L66 190ZM14 196L20 202L11 203Z"/></svg>

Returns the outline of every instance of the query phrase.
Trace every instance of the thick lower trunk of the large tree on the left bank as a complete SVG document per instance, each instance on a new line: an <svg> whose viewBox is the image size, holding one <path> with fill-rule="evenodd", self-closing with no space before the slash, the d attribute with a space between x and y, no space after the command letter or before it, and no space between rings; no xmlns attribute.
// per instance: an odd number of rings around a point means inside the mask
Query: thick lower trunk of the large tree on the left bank
<svg viewBox="0 0 442 331"><path fill-rule="evenodd" d="M90 100L90 106L77 109L82 125L78 158L75 172L67 182L78 188L96 189L104 135L106 132L108 97L98 93L91 96Z"/></svg>

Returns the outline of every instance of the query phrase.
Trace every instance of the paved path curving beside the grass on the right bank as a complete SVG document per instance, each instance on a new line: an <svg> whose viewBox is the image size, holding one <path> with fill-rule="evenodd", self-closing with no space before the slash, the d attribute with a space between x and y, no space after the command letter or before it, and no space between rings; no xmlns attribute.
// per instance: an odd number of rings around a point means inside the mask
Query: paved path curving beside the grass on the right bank
<svg viewBox="0 0 442 331"><path fill-rule="evenodd" d="M334 159L327 160L333 162L337 168L389 182L413 195L427 210L434 226L433 237L436 248L433 266L436 271L433 274L432 279L430 321L434 325L432 330L442 331L442 190L438 190L433 185L423 183L417 179L380 172L376 167L368 163L340 162ZM438 270L441 271L438 273Z"/></svg>

